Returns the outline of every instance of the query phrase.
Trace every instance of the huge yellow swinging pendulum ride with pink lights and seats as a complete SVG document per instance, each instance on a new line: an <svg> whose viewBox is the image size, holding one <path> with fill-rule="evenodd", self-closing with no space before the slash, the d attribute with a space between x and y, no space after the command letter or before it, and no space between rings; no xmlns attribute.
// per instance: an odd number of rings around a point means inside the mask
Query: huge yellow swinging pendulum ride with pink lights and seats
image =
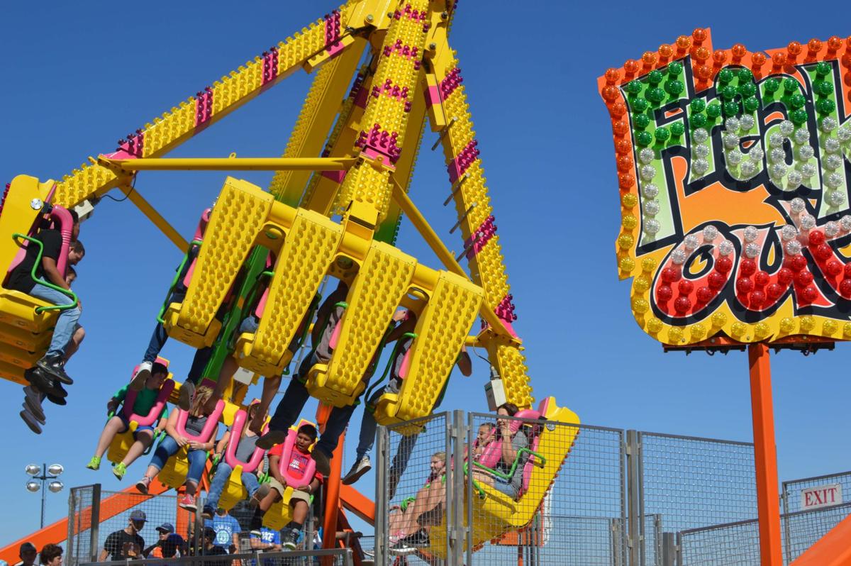
<svg viewBox="0 0 851 566"><path fill-rule="evenodd" d="M192 258L185 298L163 306L160 319L171 338L195 348L213 348L205 379L215 380L231 355L254 372L255 381L282 374L293 355L288 346L306 334L300 324L311 314L323 280L335 277L346 282L349 291L334 355L301 376L311 395L323 403L317 413L320 425L331 407L351 404L363 393L362 376L383 346L384 331L398 306L417 314L415 339L401 390L384 394L375 404L380 424L431 414L465 343L488 352L506 402L530 407L534 399L522 340L511 326L516 316L483 165L458 61L448 41L454 7L454 0L350 0L119 140L117 151L90 157L90 163L59 181L15 177L0 210L0 264L13 265L38 226L50 220L56 227L66 226L66 209L77 209L84 218L100 197L117 189ZM162 157L300 69L312 72L314 79L283 157ZM447 203L454 202L464 243L457 258L408 197L426 119L439 135L447 163ZM203 241L197 233L190 243L133 188L138 172L171 169L276 174L268 191L227 177ZM422 265L394 247L403 214L443 269ZM69 237L63 245L66 252ZM270 252L274 261L267 266ZM459 264L462 258L469 275ZM266 291L255 311L259 326L240 334L237 327L256 306L260 284ZM57 312L76 305L76 297L67 294L66 305L53 306L18 291L0 290L0 376L24 385L38 383L41 370L34 365L46 350ZM468 335L477 317L481 329ZM167 387L161 403L168 395L173 402L179 396L179 383L169 379ZM226 391L214 416L229 426L245 426L244 394L244 389ZM578 422L551 399L542 407L543 416ZM131 421L138 425L133 415ZM416 432L415 427L410 432ZM126 453L127 435L113 443L110 460ZM547 446L553 442L544 433L538 445L548 455L548 465L535 466L534 471L544 486L570 448ZM341 459L338 448L327 483L325 532L347 524L342 506L374 519L372 502L340 485ZM244 469L252 463L256 465L254 458L241 465ZM155 482L149 493L163 493L169 486L178 489L185 476L186 461L179 453L163 468L163 483ZM223 499L231 505L242 495L239 474L233 477L236 485ZM500 499L488 486L483 490ZM545 487L530 489L523 495L528 498L523 508L538 508L544 495ZM528 522L528 513L514 506L493 506L494 524L502 527L491 525L488 536L498 537ZM56 542L65 534L60 522L35 541ZM326 537L326 544L333 545L334 537ZM3 557L15 559L16 548L6 547Z"/></svg>

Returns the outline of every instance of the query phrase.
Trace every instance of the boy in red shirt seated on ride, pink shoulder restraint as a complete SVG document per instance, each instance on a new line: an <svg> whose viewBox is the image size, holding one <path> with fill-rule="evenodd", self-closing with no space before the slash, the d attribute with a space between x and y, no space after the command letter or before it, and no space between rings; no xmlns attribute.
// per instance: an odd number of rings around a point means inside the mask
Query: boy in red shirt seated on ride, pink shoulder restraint
<svg viewBox="0 0 851 566"><path fill-rule="evenodd" d="M317 429L313 425L302 425L295 437L293 451L287 465L289 474L299 477L300 485L291 486L293 495L289 498L289 506L293 508L293 520L281 530L281 543L284 548L294 550L299 540L301 527L307 518L307 510L311 504L311 495L315 494L323 482L323 474L315 472L313 477L304 477L308 462L311 458L311 444L317 439ZM314 448L316 449L316 448ZM254 514L252 529L260 529L263 514L278 500L281 500L287 489L287 480L281 475L279 464L283 457L283 444L277 444L269 451L269 483L264 483L254 493L251 500L253 506L259 506Z"/></svg>

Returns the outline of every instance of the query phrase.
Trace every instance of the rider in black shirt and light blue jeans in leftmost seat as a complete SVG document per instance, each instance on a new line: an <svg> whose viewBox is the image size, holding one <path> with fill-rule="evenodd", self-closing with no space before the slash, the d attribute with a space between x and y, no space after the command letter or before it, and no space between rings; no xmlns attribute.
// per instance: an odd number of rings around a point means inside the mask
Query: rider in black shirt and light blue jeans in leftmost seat
<svg viewBox="0 0 851 566"><path fill-rule="evenodd" d="M71 228L71 242L76 242L77 236L80 234L80 220L77 212L74 210L68 212L71 213L71 219L74 223ZM37 278L44 279L60 289L71 290L71 286L66 283L65 274L60 273L57 268L62 250L62 232L52 228L45 229L38 232L34 239L42 245L39 246L35 242L30 242L26 246L26 255L20 264L9 273L9 283L6 284L6 287L47 301L52 305L67 305L71 302L71 298L67 294L42 283L37 283L32 278L33 272L35 272ZM74 266L79 260L83 259L85 249L82 245L79 246L79 249L81 249L80 253L68 254L68 265ZM42 254L42 260L36 265L39 253ZM48 351L36 362L37 367L45 374L59 380L66 386L70 386L74 382L65 371L66 347L77 329L80 312L79 303L77 306L59 312Z"/></svg>

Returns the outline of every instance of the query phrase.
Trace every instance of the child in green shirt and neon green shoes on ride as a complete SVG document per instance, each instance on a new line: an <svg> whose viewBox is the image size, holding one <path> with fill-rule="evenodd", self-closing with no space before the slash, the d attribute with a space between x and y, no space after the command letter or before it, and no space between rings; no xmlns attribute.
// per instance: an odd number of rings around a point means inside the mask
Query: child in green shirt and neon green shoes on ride
<svg viewBox="0 0 851 566"><path fill-rule="evenodd" d="M157 404L157 396L159 395L160 388L163 386L163 382L167 377L168 368L166 368L162 363L154 363L153 366L151 366L151 374L149 374L148 379L145 382L145 389L136 395L136 399L133 403L133 414L147 416L151 412L151 409L153 409L154 405ZM89 468L89 470L100 469L100 459L103 457L104 453L106 453L106 449L109 448L112 439L115 438L117 434L127 432L130 427L130 423L127 420L127 416L124 414L124 411L119 411L119 405L123 403L125 397L127 397L128 388L128 386L123 386L115 393L115 395L112 396L109 403L106 403L106 412L113 414L114 416L112 416L110 420L106 421L106 426L104 426L103 432L100 433L97 447L94 449L94 456L92 456L92 459L89 460L88 464L86 464L86 467ZM157 420L160 420L157 425L157 430L163 429L165 426L164 419L167 418L168 406L163 405L163 410L157 417ZM115 474L115 477L118 479L122 479L124 477L124 474L127 473L127 466L132 464L149 446L151 446L151 443L154 441L155 432L154 427L150 425L139 426L136 428L133 433L134 443L127 451L127 455L124 456L123 460L112 467L112 473Z"/></svg>

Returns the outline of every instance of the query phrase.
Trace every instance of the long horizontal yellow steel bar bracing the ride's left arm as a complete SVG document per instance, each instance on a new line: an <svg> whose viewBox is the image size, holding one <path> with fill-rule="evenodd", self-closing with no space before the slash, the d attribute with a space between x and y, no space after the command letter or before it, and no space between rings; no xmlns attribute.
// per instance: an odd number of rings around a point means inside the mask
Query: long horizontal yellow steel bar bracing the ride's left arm
<svg viewBox="0 0 851 566"><path fill-rule="evenodd" d="M345 171L356 157L155 157L108 159L98 163L117 171Z"/></svg>

